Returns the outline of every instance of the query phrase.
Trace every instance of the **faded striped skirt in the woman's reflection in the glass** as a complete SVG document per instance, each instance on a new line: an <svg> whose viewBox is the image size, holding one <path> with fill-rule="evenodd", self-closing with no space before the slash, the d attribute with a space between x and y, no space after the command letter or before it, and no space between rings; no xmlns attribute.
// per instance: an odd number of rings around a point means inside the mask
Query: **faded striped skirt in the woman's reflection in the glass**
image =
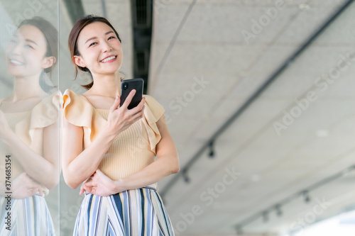
<svg viewBox="0 0 355 236"><path fill-rule="evenodd" d="M23 199L0 196L0 207L1 236L55 235L53 220L43 196L36 194Z"/></svg>

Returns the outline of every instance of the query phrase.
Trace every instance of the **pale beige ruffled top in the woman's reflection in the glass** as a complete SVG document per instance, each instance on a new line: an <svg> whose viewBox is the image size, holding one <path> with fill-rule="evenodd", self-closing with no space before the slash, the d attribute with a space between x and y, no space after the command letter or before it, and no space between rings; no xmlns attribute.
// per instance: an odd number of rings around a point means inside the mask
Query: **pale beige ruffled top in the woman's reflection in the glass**
<svg viewBox="0 0 355 236"><path fill-rule="evenodd" d="M59 94L53 94L46 97L38 103L31 111L19 113L4 113L4 116L11 130L17 137L24 142L34 152L43 156L43 129L55 123L59 116ZM4 99L0 99L0 103ZM58 135L55 133L53 135ZM50 137L49 137L50 138ZM5 183L6 180L6 155L10 155L11 159L11 182L18 175L24 172L20 162L16 159L7 145L0 142L0 182ZM53 174L59 174L53 173ZM49 191L45 186L42 186L43 193L48 195Z"/></svg>

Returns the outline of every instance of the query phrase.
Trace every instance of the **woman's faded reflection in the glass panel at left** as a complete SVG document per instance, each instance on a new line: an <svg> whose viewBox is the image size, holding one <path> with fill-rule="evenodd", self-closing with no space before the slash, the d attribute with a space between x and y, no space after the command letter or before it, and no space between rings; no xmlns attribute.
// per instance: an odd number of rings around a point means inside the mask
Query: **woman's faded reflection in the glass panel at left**
<svg viewBox="0 0 355 236"><path fill-rule="evenodd" d="M49 79L57 57L58 31L39 17L23 21L6 49L14 81L0 100L1 236L55 235L44 196L60 174L59 99Z"/></svg>

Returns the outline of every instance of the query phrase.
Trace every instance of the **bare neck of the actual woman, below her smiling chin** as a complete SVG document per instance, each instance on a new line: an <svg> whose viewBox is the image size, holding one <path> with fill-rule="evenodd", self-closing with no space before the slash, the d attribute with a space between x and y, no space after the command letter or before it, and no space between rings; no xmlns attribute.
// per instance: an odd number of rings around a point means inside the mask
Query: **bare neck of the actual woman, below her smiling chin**
<svg viewBox="0 0 355 236"><path fill-rule="evenodd" d="M116 98L121 96L121 77L119 72L115 74L94 76L94 84L90 89L91 94Z"/></svg>

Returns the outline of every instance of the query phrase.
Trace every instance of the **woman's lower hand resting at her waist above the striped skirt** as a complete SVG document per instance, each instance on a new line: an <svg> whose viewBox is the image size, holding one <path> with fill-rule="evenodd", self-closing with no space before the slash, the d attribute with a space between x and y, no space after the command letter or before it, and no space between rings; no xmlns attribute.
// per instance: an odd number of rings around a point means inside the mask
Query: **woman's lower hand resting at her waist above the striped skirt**
<svg viewBox="0 0 355 236"><path fill-rule="evenodd" d="M110 196L112 194L119 193L126 189L121 186L119 181L114 181L102 173L99 169L91 176L91 181L82 184L80 189L80 195L87 191L97 196Z"/></svg>

